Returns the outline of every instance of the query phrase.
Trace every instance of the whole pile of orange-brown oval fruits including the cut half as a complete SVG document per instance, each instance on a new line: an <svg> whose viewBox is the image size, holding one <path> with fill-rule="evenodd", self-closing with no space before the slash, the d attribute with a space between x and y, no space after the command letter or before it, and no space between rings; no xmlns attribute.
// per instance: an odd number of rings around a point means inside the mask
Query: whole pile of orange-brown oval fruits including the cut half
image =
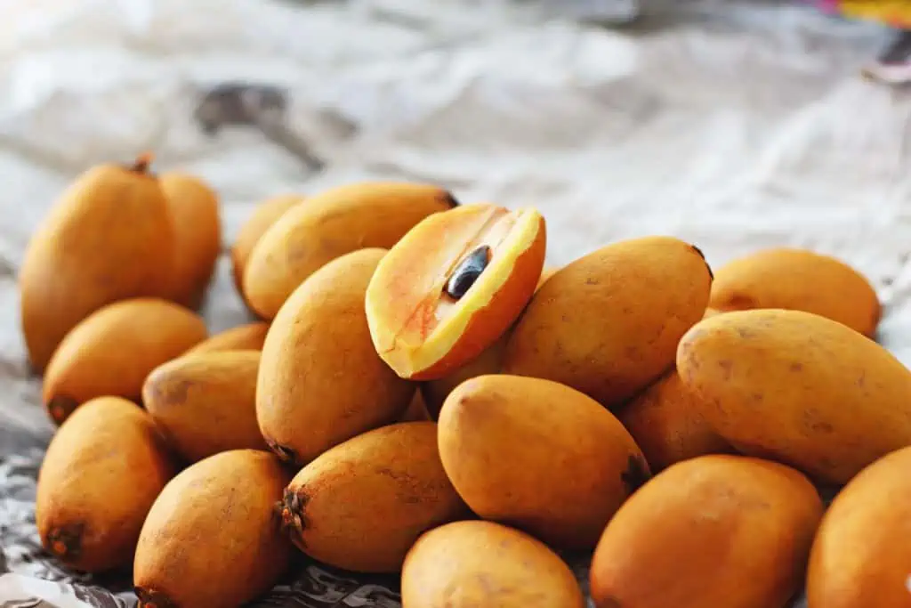
<svg viewBox="0 0 911 608"><path fill-rule="evenodd" d="M20 274L71 568L227 608L296 546L405 608L578 608L560 556L594 550L599 608L911 605L911 372L844 263L712 276L651 236L545 270L535 209L357 183L261 204L231 248L261 321L209 336L218 198L149 160L79 176Z"/></svg>

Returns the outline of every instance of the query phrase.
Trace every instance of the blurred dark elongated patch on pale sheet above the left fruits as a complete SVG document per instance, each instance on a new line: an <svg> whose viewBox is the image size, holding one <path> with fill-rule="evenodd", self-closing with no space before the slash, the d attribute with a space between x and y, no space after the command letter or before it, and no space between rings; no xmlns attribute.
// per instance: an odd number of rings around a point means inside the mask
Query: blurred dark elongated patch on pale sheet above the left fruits
<svg viewBox="0 0 911 608"><path fill-rule="evenodd" d="M203 133L214 137L224 127L254 127L273 143L302 160L308 170L322 170L325 162L310 145L288 128L288 95L271 85L227 82L210 88L193 111Z"/></svg>

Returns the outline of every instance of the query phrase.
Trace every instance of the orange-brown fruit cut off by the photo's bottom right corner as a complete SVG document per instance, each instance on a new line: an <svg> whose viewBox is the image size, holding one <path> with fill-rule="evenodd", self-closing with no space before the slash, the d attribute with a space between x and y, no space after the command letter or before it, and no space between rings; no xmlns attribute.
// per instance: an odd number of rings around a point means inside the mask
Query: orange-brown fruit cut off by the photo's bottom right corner
<svg viewBox="0 0 911 608"><path fill-rule="evenodd" d="M911 604L911 448L861 471L835 497L816 533L809 608Z"/></svg>

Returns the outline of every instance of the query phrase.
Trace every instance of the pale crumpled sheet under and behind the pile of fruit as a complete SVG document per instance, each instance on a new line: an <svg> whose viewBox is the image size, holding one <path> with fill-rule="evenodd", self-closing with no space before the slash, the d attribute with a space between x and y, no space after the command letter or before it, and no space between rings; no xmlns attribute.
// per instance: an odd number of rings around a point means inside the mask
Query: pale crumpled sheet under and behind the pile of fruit
<svg viewBox="0 0 911 608"><path fill-rule="evenodd" d="M911 365L911 94L858 76L885 29L746 0L655 0L631 24L594 23L634 8L0 5L0 572L16 572L0 576L0 606L77 605L67 603L71 588L22 576L68 574L34 545L34 474L51 427L27 376L16 268L67 180L142 149L155 151L160 170L210 180L228 243L267 196L386 178L537 206L548 263L650 233L697 243L716 265L775 244L834 253L875 282L881 340ZM241 112L259 128L207 132L200 99L234 85L268 87L277 99L269 120ZM302 142L322 171L303 161ZM212 331L248 318L226 260L206 314ZM312 593L292 594L303 605L397 605L373 582L302 569L298 589ZM290 605L282 593L260 605Z"/></svg>

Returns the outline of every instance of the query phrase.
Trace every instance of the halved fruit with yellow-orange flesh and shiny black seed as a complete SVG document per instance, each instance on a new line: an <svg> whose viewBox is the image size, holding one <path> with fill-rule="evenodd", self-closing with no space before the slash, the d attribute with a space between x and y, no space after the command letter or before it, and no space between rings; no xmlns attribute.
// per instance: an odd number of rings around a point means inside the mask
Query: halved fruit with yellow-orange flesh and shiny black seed
<svg viewBox="0 0 911 608"><path fill-rule="evenodd" d="M546 246L535 209L473 204L428 216L386 253L367 287L376 352L413 380L466 364L525 308Z"/></svg>

